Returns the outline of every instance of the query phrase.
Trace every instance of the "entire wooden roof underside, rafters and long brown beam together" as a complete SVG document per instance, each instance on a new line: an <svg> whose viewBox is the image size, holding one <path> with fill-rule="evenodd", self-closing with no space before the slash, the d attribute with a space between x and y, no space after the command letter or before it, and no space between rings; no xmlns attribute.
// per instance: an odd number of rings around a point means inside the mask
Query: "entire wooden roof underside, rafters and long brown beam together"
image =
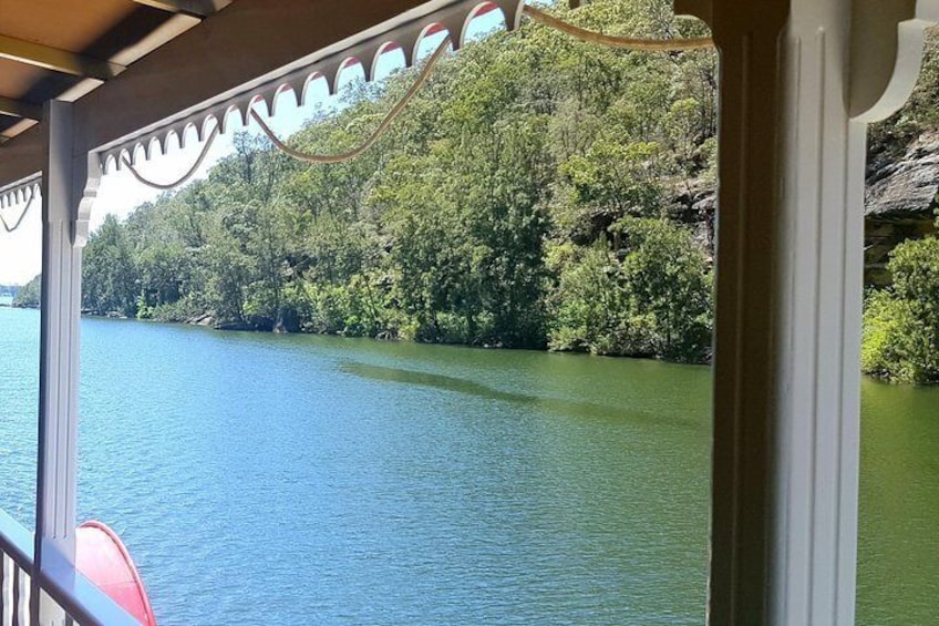
<svg viewBox="0 0 939 626"><path fill-rule="evenodd" d="M227 111L318 60L385 34L393 41L399 29L462 20L483 2L0 0L0 194L42 171L37 117L49 100L74 102L74 158L86 158Z"/></svg>

